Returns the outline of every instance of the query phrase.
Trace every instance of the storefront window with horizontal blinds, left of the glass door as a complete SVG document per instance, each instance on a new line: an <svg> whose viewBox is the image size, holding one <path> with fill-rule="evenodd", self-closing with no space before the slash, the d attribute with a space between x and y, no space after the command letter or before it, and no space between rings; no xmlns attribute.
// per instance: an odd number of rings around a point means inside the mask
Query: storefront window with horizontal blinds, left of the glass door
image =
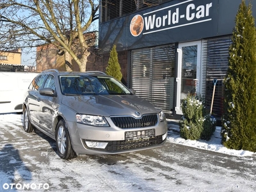
<svg viewBox="0 0 256 192"><path fill-rule="evenodd" d="M132 51L131 75L131 87L136 90L136 95L164 111L173 111L174 45Z"/></svg>

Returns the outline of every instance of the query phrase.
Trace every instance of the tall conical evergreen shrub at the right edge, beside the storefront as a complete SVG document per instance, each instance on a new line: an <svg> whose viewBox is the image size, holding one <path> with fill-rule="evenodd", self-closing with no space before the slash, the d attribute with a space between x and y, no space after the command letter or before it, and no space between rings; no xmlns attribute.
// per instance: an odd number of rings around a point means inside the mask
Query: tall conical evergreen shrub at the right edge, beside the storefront
<svg viewBox="0 0 256 192"><path fill-rule="evenodd" d="M256 30L252 4L246 6L244 0L236 15L224 87L222 143L256 152Z"/></svg>

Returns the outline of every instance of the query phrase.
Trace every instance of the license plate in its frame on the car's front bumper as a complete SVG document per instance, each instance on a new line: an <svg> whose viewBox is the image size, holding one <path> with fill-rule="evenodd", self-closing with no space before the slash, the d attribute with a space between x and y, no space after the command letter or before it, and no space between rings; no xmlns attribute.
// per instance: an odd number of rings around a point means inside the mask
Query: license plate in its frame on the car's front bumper
<svg viewBox="0 0 256 192"><path fill-rule="evenodd" d="M156 136L155 129L147 129L140 131L125 131L125 140L143 140L154 138Z"/></svg>

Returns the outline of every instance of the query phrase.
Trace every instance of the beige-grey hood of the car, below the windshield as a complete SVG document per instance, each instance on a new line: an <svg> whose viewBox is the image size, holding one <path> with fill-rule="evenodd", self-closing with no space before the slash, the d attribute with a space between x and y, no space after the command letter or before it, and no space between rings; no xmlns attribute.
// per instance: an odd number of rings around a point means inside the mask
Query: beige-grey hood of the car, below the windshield
<svg viewBox="0 0 256 192"><path fill-rule="evenodd" d="M135 115L136 111L143 115L160 112L160 109L136 95L64 96L62 103L77 113L90 115Z"/></svg>

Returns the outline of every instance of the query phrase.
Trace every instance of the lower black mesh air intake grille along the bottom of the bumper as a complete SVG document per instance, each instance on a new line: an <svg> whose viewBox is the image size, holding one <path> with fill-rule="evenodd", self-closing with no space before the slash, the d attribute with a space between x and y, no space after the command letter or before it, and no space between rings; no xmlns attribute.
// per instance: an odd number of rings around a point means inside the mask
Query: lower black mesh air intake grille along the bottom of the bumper
<svg viewBox="0 0 256 192"><path fill-rule="evenodd" d="M86 146L85 140L84 146ZM144 148L144 147L153 147L154 145L160 145L163 143L162 136L156 136L154 138L145 138L141 140L125 140L125 141L100 141L100 142L107 142L108 145L106 148L90 148L93 150L102 150L108 152L122 152L124 150L131 150L136 148Z"/></svg>

